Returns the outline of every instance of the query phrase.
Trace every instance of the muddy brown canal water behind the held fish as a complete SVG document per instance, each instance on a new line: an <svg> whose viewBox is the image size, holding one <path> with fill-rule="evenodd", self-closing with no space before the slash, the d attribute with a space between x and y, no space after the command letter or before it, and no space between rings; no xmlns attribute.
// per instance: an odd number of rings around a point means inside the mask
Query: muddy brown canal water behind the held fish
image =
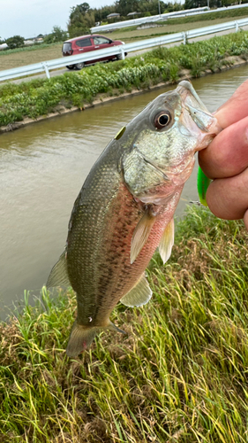
<svg viewBox="0 0 248 443"><path fill-rule="evenodd" d="M248 66L193 81L210 111L247 78ZM169 88L171 89L171 88ZM86 175L109 140L166 89L41 121L0 136L0 317L39 295L64 249L71 208ZM177 215L197 200L196 169L184 187Z"/></svg>

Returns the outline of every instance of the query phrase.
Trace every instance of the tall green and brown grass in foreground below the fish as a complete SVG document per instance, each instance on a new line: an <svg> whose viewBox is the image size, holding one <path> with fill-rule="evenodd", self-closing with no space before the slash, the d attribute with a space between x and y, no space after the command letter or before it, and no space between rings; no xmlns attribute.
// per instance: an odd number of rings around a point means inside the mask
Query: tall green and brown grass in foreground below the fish
<svg viewBox="0 0 248 443"><path fill-rule="evenodd" d="M128 336L102 333L70 360L71 291L1 323L0 441L247 441L248 234L191 208L169 264L154 256L153 299L116 307Z"/></svg>

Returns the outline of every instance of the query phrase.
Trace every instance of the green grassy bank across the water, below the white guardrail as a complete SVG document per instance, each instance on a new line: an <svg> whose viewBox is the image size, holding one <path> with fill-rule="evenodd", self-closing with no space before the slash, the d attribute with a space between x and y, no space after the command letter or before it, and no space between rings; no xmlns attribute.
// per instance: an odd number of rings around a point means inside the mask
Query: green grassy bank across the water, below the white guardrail
<svg viewBox="0 0 248 443"><path fill-rule="evenodd" d="M187 69L193 77L231 66L236 57L248 58L248 33L214 37L206 42L158 48L142 56L89 66L50 80L8 83L0 89L0 126L25 117L35 119L71 106L83 108L95 97L120 95L132 89L149 89L159 82L177 82ZM12 127L11 127L12 128Z"/></svg>

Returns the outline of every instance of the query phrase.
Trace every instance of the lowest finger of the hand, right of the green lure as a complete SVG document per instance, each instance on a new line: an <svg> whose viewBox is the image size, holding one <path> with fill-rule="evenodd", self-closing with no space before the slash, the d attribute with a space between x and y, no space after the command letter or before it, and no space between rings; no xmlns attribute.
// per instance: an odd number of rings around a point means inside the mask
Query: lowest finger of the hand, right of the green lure
<svg viewBox="0 0 248 443"><path fill-rule="evenodd" d="M210 183L207 205L217 217L226 220L242 219L248 209L248 168L234 177L217 178Z"/></svg>

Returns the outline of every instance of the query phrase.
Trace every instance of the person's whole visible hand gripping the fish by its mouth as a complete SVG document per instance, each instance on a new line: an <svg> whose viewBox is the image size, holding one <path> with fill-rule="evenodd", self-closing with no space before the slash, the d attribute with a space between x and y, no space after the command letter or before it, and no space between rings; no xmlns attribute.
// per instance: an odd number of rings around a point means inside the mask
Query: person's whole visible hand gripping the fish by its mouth
<svg viewBox="0 0 248 443"><path fill-rule="evenodd" d="M248 230L248 80L214 114L222 132L199 152L199 166L214 181L207 205L226 220L244 218Z"/></svg>

